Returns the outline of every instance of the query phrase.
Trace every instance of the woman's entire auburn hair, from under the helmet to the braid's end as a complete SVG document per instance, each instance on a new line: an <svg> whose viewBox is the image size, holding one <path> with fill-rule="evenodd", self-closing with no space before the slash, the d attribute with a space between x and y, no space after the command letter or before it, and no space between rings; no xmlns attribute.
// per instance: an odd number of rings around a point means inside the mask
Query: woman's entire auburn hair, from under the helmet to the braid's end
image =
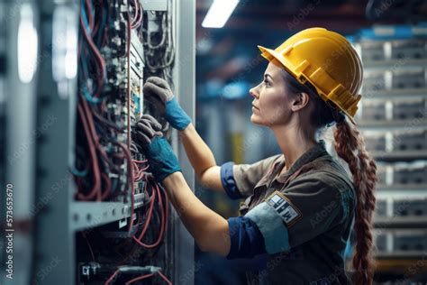
<svg viewBox="0 0 427 285"><path fill-rule="evenodd" d="M283 69L284 70L284 69ZM372 215L375 209L374 195L377 183L377 165L365 148L365 140L346 116L332 103L327 103L318 95L310 84L299 83L284 70L287 87L293 93L307 93L314 102L311 122L316 129L334 126L334 148L342 160L349 164L356 189L356 217L354 232L356 234L355 253L352 264L354 284L370 285L373 280L374 264L372 259Z"/></svg>

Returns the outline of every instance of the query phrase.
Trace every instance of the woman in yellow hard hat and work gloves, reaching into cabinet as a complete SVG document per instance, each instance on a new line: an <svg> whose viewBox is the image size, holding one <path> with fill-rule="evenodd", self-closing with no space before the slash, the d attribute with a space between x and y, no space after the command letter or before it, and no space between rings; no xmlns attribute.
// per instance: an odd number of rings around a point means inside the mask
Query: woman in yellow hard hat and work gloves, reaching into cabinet
<svg viewBox="0 0 427 285"><path fill-rule="evenodd" d="M202 251L233 258L267 256L252 283L347 284L344 251L356 235L355 284L371 284L371 218L377 182L353 116L362 66L344 37L323 28L296 33L276 50L259 47L268 68L250 89L250 121L273 131L283 153L253 164L217 166L213 153L161 78L148 78L146 97L161 103L180 134L196 178L230 198L246 198L241 216L224 219L195 197L156 122L137 124L136 141ZM334 148L352 179L326 150L319 133L334 127Z"/></svg>

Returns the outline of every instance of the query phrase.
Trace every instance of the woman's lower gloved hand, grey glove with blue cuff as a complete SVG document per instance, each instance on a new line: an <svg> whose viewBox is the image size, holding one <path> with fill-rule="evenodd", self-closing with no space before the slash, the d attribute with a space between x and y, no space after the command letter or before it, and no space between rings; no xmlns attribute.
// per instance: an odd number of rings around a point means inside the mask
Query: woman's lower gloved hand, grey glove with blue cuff
<svg viewBox="0 0 427 285"><path fill-rule="evenodd" d="M170 174L181 171L177 156L168 141L159 132L161 124L150 115L142 115L136 124L136 132L132 138L144 150L150 162L150 170L159 182Z"/></svg>

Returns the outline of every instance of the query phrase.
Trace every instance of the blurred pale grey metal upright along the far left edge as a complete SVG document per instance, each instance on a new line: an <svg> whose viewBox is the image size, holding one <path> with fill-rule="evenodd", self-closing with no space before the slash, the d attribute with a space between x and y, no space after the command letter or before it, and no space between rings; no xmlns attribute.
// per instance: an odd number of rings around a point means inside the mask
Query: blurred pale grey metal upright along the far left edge
<svg viewBox="0 0 427 285"><path fill-rule="evenodd" d="M5 183L14 185L14 208L13 208L13 256L14 274L13 279L5 277L5 260L2 260L1 270L3 274L0 277L1 284L27 284L31 280L31 272L28 268L33 266L32 233L24 231L21 225L31 222L32 206L34 205L34 184L35 184L35 140L40 131L35 124L36 110L36 81L37 71L33 75L31 82L23 83L19 78L18 70L18 29L21 21L21 9L23 5L32 6L33 24L36 29L39 28L37 9L34 1L6 1L2 3L2 23L5 24L4 31L6 39L6 74L5 74ZM2 90L3 91L3 90ZM5 184L3 184L5 185ZM5 188L5 186L3 186ZM5 192L0 195L2 206L0 212L5 215ZM5 222L5 219L2 221ZM0 256L5 257L5 236L2 236ZM18 246L20 247L18 250Z"/></svg>

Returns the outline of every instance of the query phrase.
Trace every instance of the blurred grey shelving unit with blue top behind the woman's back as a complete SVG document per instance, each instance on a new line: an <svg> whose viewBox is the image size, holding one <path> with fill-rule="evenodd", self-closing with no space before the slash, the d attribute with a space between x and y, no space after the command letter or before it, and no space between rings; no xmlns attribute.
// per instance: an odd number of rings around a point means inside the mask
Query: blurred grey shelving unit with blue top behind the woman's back
<svg viewBox="0 0 427 285"><path fill-rule="evenodd" d="M378 166L377 272L411 280L426 270L406 274L427 254L427 32L384 28L354 42L365 68L358 126Z"/></svg>

